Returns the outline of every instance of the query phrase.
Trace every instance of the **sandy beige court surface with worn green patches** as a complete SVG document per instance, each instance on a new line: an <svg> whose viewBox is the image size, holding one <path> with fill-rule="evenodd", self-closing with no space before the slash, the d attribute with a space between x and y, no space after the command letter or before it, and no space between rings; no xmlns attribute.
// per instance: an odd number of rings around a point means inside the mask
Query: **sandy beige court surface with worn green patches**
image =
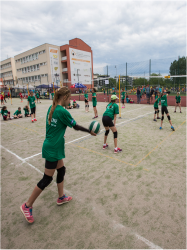
<svg viewBox="0 0 187 250"><path fill-rule="evenodd" d="M1 249L186 249L187 237L187 108L173 113L176 129L167 118L153 122L153 105L126 104L117 120L118 146L113 134L102 150L101 132L96 137L68 128L66 131L65 192L73 197L62 206L54 181L36 200L35 222L24 219L20 205L30 196L44 171L41 156L45 116L50 100L37 104L37 119L3 121L0 118L0 243ZM85 113L70 110L78 124L88 127L93 108ZM10 100L11 114L26 100Z"/></svg>

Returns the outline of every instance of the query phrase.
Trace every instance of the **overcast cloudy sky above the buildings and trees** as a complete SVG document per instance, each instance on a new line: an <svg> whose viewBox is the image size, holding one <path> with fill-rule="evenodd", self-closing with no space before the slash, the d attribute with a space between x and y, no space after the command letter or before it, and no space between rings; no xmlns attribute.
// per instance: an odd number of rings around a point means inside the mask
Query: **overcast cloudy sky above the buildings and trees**
<svg viewBox="0 0 187 250"><path fill-rule="evenodd" d="M76 37L91 46L94 68L187 56L187 1L0 1L0 60Z"/></svg>

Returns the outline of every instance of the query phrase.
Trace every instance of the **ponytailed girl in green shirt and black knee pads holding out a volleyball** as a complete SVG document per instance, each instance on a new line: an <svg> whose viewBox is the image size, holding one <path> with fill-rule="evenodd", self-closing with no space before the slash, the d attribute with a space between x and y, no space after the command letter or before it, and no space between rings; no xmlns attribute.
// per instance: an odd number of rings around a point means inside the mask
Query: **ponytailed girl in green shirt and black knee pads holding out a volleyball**
<svg viewBox="0 0 187 250"><path fill-rule="evenodd" d="M95 133L76 124L71 114L64 108L68 105L71 98L71 92L65 86L60 88L54 96L53 105L48 109L46 116L46 137L42 147L42 157L45 158L45 171L43 178L35 186L30 198L20 207L25 219L29 223L34 222L32 215L32 205L42 191L51 183L55 170L57 170L58 199L57 205L62 205L71 201L71 196L64 194L64 176L66 168L63 159L65 158L65 140L64 134L67 126L90 133Z"/></svg>

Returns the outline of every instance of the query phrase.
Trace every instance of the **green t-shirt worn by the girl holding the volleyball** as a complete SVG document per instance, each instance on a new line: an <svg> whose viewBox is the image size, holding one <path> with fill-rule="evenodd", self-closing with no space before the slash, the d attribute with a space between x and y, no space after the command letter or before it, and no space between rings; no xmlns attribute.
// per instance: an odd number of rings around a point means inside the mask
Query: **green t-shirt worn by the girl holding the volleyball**
<svg viewBox="0 0 187 250"><path fill-rule="evenodd" d="M67 126L72 128L76 125L76 122L66 109L57 105L49 125L48 116L51 107L52 105L49 107L46 116L46 137L42 147L42 157L47 161L54 162L65 158L64 134Z"/></svg>

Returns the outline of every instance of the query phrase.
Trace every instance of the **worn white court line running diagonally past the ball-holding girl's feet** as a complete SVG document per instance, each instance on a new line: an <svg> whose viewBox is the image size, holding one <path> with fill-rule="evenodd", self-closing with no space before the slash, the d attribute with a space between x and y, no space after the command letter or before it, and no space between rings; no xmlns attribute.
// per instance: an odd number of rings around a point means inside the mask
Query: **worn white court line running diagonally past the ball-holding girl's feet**
<svg viewBox="0 0 187 250"><path fill-rule="evenodd" d="M26 163L28 164L30 167L32 167L33 169L35 169L37 172L39 172L40 174L43 175L43 172L40 171L38 168L36 168L35 166L33 166L32 164L28 163L25 161L25 159L21 158L20 156L18 156L17 154L13 153L12 151L10 151L9 149L3 147L2 145L0 145L1 148L3 148L4 150L6 150L7 152L9 152L10 154L14 155L16 158L18 158L20 161L22 161L22 163ZM53 182L54 183L54 182ZM65 189L64 189L65 190ZM68 190L66 190L67 192L69 192ZM65 191L65 192L66 192ZM78 201L80 202L80 199L78 199ZM88 206L88 205L87 205ZM99 210L99 212L101 213L101 210ZM113 221L113 224L114 224L114 227L115 228L124 228L124 229L127 229L129 231L129 228L125 227L124 225L122 224L119 224L119 223L116 223L115 221ZM138 240L141 240L142 242L144 242L147 246L150 247L151 250L163 250L161 247L155 245L154 243L152 243L151 241L145 239L144 237L140 236L139 234L137 233L131 233L133 234L134 236L136 236L136 238Z"/></svg>

